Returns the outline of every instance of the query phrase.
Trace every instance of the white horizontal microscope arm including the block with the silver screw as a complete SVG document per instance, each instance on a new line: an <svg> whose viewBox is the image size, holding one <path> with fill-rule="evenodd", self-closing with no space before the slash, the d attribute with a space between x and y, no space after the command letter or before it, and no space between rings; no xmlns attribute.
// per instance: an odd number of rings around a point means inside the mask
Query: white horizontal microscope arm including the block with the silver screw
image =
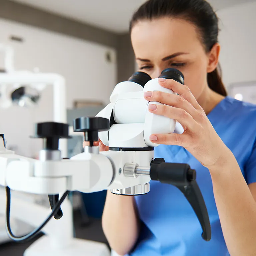
<svg viewBox="0 0 256 256"><path fill-rule="evenodd" d="M123 166L140 158L150 162L151 152L104 153L81 153L60 161L39 161L15 154L1 154L0 185L16 191L55 195L65 191L92 193L109 188L121 189L150 181L149 176L137 179L125 177Z"/></svg>

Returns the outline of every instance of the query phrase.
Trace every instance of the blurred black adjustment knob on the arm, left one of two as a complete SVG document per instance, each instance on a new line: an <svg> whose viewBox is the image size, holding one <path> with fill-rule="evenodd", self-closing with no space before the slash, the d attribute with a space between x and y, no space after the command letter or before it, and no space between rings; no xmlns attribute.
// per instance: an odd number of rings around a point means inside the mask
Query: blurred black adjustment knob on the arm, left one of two
<svg viewBox="0 0 256 256"><path fill-rule="evenodd" d="M44 139L44 149L58 150L59 139L68 139L71 136L68 135L68 124L56 123L56 122L44 122L37 123L35 125L35 135L33 138Z"/></svg>

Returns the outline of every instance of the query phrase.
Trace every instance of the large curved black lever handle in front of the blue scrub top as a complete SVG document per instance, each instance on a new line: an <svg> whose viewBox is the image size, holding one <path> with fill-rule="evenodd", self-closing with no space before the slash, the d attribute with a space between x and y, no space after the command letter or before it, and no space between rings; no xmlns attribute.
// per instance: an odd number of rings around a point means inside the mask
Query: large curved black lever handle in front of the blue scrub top
<svg viewBox="0 0 256 256"><path fill-rule="evenodd" d="M190 169L188 164L153 162L150 177L152 180L171 184L184 194L200 222L203 230L202 238L210 241L211 225L202 193L195 181L196 171Z"/></svg>

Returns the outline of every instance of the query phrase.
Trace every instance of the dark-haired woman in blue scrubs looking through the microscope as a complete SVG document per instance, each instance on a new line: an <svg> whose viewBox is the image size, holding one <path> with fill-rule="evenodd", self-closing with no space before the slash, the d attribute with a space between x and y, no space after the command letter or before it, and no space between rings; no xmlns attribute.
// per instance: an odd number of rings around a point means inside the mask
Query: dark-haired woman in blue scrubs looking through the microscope
<svg viewBox="0 0 256 256"><path fill-rule="evenodd" d="M182 193L151 182L143 196L108 192L103 230L120 255L256 255L256 106L227 97L217 66L218 18L204 0L149 0L133 15L131 41L140 71L159 77L179 69L185 85L159 79L179 95L147 92L165 105L151 112L174 118L184 133L153 134L155 157L188 163L208 209L212 239ZM101 150L106 150L101 145Z"/></svg>

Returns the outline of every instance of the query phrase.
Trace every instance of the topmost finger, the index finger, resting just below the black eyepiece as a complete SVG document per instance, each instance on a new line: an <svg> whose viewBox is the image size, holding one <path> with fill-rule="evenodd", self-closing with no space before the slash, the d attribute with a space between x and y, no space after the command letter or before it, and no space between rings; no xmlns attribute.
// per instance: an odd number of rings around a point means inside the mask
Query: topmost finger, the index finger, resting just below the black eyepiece
<svg viewBox="0 0 256 256"><path fill-rule="evenodd" d="M202 109L201 106L198 104L197 100L195 99L194 95L191 93L188 86L183 85L173 79L158 79L158 83L164 87L171 89L172 91L178 93L180 96L182 96L185 100L191 103L191 105L195 109Z"/></svg>

